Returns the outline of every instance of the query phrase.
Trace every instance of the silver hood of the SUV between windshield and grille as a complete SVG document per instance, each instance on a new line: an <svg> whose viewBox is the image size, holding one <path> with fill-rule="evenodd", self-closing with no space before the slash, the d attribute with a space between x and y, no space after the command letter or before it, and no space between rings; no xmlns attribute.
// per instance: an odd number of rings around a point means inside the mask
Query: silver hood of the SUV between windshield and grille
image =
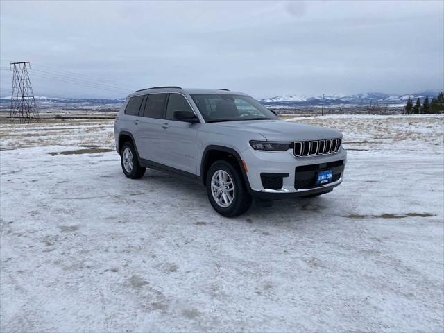
<svg viewBox="0 0 444 333"><path fill-rule="evenodd" d="M268 141L304 141L342 137L339 130L283 120L244 120L212 123L223 128L244 130L263 135Z"/></svg>

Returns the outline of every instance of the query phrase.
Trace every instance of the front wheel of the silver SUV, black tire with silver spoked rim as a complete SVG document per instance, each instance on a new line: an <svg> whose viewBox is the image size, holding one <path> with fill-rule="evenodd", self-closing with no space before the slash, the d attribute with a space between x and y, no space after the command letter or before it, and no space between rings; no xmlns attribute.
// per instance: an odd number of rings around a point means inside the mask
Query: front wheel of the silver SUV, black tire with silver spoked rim
<svg viewBox="0 0 444 333"><path fill-rule="evenodd" d="M208 200L214 210L222 216L238 216L250 208L252 199L241 177L236 167L225 160L214 162L208 170L206 180ZM219 180L221 180L220 185Z"/></svg>

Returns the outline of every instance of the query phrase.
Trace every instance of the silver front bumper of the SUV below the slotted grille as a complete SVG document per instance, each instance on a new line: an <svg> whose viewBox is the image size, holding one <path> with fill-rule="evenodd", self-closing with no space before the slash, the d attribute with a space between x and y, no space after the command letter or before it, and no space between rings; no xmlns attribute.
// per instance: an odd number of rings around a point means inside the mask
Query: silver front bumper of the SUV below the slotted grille
<svg viewBox="0 0 444 333"><path fill-rule="evenodd" d="M241 153L241 158L246 162L250 194L256 198L264 200L274 200L278 198L288 198L297 196L309 196L320 192L332 191L332 189L343 181L343 168L347 162L347 151L341 148L338 153L331 155L317 155L311 157L294 157L292 151L255 151L248 148ZM311 164L325 164L336 161L343 161L343 167L340 169L341 176L333 182L310 186L309 188L296 188L295 178L297 179L296 167L307 166ZM282 188L267 189L264 188L261 173L284 173L282 178ZM288 174L288 176L287 176Z"/></svg>

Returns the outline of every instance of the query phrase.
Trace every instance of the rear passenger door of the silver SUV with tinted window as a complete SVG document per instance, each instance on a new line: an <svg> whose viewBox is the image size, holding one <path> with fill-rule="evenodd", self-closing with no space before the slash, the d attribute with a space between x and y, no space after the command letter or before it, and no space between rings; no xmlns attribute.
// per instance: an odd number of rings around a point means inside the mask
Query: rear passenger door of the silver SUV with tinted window
<svg viewBox="0 0 444 333"><path fill-rule="evenodd" d="M140 121L137 125L137 141L140 142L139 155L144 160L164 164L162 148L162 125L165 122L165 102L168 94L146 95L142 105Z"/></svg>

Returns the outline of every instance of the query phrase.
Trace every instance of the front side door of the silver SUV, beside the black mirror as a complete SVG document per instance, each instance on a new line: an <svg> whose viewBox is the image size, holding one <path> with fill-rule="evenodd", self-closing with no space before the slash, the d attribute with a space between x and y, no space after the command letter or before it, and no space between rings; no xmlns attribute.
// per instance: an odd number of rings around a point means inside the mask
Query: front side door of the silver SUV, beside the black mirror
<svg viewBox="0 0 444 333"><path fill-rule="evenodd" d="M164 164L196 175L196 138L200 124L174 119L174 112L179 110L194 112L184 95L169 94L166 119L162 121Z"/></svg>

